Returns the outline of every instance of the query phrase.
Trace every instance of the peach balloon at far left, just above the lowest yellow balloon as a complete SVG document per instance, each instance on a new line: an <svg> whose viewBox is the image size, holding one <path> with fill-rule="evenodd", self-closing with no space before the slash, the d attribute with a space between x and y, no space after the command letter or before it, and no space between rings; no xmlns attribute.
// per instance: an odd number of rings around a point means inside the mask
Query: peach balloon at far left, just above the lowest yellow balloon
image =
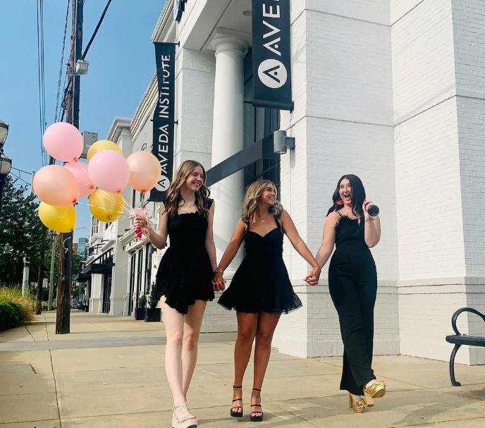
<svg viewBox="0 0 485 428"><path fill-rule="evenodd" d="M34 176L34 192L46 204L65 207L78 202L79 185L73 173L61 165L47 165Z"/></svg>

